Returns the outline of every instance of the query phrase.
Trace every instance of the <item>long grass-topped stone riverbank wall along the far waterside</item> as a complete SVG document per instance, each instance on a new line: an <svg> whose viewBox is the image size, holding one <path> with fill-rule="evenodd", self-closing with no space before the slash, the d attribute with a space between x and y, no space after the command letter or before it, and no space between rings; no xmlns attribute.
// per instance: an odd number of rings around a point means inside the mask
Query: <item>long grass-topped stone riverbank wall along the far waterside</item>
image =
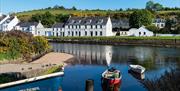
<svg viewBox="0 0 180 91"><path fill-rule="evenodd" d="M49 42L180 47L180 37L49 37Z"/></svg>

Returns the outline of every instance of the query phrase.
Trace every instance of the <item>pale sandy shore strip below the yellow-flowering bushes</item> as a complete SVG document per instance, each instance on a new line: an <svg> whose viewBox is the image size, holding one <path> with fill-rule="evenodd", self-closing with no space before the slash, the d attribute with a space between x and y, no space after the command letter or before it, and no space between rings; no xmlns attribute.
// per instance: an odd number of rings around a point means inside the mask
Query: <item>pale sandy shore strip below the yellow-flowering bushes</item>
<svg viewBox="0 0 180 91"><path fill-rule="evenodd" d="M72 58L74 58L74 56L70 54L51 52L31 63L2 64L0 65L0 74L9 72L28 72L36 69L46 69L48 67L63 64L65 61L68 61Z"/></svg>

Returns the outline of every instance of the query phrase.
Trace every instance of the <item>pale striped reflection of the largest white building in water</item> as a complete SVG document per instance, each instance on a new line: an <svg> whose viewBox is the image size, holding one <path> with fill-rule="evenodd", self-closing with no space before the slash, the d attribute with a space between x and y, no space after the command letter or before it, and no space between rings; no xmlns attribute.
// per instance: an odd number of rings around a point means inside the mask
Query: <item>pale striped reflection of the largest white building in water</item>
<svg viewBox="0 0 180 91"><path fill-rule="evenodd" d="M106 65L112 59L112 46L54 44L55 52L65 52L75 55L79 60L77 64Z"/></svg>

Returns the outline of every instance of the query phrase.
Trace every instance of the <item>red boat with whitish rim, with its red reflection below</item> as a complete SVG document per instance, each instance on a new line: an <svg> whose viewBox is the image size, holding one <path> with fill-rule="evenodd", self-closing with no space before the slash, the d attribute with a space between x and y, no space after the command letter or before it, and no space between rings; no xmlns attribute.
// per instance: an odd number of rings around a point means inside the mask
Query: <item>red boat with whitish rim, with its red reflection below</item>
<svg viewBox="0 0 180 91"><path fill-rule="evenodd" d="M118 91L121 84L122 75L114 68L107 69L102 73L103 91Z"/></svg>

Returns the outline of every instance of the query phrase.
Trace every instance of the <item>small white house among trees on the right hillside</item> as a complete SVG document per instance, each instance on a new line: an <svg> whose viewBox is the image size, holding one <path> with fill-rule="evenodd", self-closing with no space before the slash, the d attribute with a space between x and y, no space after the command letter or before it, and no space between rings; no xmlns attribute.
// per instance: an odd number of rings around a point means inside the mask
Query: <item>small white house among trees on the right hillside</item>
<svg viewBox="0 0 180 91"><path fill-rule="evenodd" d="M161 18L157 18L157 19L153 20L153 24L158 28L164 28L166 25L166 20L161 19Z"/></svg>

